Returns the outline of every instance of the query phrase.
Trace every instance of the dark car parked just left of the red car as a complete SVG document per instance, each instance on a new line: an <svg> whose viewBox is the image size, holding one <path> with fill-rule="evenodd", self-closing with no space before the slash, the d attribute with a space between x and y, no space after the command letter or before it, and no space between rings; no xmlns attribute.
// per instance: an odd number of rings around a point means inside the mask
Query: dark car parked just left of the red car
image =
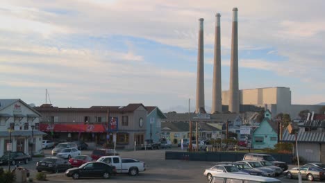
<svg viewBox="0 0 325 183"><path fill-rule="evenodd" d="M58 173L60 171L66 171L69 168L71 168L71 164L60 157L45 157L36 163L36 170L38 172L49 171Z"/></svg>

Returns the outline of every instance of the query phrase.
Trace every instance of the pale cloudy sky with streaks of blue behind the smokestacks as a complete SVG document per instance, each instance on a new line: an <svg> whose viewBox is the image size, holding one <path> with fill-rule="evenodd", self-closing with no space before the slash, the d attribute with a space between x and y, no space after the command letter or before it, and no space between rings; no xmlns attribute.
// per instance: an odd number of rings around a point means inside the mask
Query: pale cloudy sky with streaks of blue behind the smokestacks
<svg viewBox="0 0 325 183"><path fill-rule="evenodd" d="M228 90L234 7L240 89L290 87L293 104L325 102L325 1L315 0L0 0L0 98L39 106L47 89L58 107L195 106L203 18L211 106L215 15Z"/></svg>

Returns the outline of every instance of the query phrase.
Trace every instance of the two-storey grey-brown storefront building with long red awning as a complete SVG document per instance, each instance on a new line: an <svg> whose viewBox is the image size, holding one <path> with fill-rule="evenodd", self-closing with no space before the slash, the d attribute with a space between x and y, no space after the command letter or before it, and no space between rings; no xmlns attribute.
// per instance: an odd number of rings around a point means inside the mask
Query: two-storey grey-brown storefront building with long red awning
<svg viewBox="0 0 325 183"><path fill-rule="evenodd" d="M147 108L141 103L126 106L60 108L41 105L40 130L54 141L85 141L90 146L116 142L117 148L131 149L144 143Z"/></svg>

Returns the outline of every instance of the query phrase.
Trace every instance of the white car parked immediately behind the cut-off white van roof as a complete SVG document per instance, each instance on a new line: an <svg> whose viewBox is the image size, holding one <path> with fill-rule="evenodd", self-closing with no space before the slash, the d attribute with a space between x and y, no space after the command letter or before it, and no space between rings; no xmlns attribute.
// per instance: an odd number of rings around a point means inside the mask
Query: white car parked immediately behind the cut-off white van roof
<svg viewBox="0 0 325 183"><path fill-rule="evenodd" d="M217 164L211 168L207 168L203 175L207 177L208 180L218 173L236 173L241 175L249 175L248 173L241 172L236 166L231 164Z"/></svg>

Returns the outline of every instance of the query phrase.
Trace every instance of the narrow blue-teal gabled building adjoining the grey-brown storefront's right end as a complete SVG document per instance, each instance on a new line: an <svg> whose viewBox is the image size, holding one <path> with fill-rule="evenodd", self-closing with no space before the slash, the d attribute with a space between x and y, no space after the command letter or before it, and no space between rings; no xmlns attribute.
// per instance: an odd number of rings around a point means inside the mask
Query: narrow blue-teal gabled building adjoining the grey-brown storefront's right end
<svg viewBox="0 0 325 183"><path fill-rule="evenodd" d="M146 139L153 139L153 141L159 141L161 132L161 121L167 119L167 116L156 106L146 106L147 124L146 124Z"/></svg>

